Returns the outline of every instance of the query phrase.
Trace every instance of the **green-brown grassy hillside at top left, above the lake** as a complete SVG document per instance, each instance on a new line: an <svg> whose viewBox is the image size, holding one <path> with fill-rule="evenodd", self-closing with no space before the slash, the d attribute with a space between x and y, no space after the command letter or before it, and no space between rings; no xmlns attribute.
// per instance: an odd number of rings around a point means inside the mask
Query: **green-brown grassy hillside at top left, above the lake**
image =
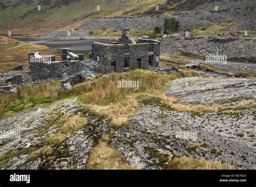
<svg viewBox="0 0 256 187"><path fill-rule="evenodd" d="M11 0L0 2L0 28L65 27L90 17L142 15L166 0ZM38 10L41 6L41 10ZM99 10L97 10L99 6Z"/></svg>

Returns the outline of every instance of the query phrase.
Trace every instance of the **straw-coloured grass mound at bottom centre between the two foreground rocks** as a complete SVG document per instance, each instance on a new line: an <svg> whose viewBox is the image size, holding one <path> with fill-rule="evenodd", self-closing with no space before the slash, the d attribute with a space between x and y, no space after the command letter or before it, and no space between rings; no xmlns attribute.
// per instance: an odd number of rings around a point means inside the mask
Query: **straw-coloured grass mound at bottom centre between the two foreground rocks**
<svg viewBox="0 0 256 187"><path fill-rule="evenodd" d="M87 169L136 169L125 163L122 156L113 148L101 142L90 151Z"/></svg>

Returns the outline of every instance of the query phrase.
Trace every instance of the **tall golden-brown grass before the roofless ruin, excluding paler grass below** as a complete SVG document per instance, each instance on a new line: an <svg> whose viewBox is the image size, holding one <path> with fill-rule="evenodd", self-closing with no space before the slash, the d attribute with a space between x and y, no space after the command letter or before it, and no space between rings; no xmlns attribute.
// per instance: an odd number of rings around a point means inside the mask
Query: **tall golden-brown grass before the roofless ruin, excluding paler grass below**
<svg viewBox="0 0 256 187"><path fill-rule="evenodd" d="M111 74L108 78L99 78L92 83L92 90L86 97L85 104L108 105L125 100L133 93L159 90L171 80L171 77L146 70L134 70L130 74ZM139 89L118 88L117 83L121 80L138 81Z"/></svg>

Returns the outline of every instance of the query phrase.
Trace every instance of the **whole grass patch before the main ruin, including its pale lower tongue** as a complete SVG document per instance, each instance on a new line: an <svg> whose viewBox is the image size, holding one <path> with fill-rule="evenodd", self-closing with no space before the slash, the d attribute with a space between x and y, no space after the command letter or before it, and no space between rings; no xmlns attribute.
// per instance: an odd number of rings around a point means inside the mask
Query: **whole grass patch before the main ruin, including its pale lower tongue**
<svg viewBox="0 0 256 187"><path fill-rule="evenodd" d="M153 95L156 90L163 90L177 74L160 75L146 70L134 70L130 74L112 74L92 83L92 90L82 99L85 107L91 111L108 116L114 126L122 126L133 116L138 103L144 95ZM139 89L117 88L119 80L139 81Z"/></svg>

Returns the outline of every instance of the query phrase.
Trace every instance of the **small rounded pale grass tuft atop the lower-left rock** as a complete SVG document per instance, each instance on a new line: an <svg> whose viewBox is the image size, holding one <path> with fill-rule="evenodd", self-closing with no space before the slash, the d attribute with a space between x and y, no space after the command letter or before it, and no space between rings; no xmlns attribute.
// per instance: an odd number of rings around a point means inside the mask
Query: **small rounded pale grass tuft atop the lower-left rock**
<svg viewBox="0 0 256 187"><path fill-rule="evenodd" d="M76 132L83 126L87 125L87 119L79 116L73 116L66 120L66 123L62 126L62 133Z"/></svg>

